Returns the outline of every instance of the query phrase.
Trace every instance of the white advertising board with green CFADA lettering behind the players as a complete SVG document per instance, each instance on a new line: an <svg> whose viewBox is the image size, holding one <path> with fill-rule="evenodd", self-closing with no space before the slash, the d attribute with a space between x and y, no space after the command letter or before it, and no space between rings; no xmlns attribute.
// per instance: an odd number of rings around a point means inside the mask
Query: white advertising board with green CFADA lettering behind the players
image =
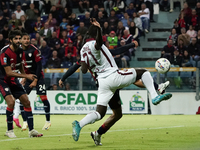
<svg viewBox="0 0 200 150"><path fill-rule="evenodd" d="M87 114L96 110L97 91L47 91L51 114ZM43 114L43 103L36 91L29 94L34 114ZM120 99L124 114L144 114L148 111L146 90L121 90ZM6 103L0 97L0 114L5 114ZM108 107L108 114L112 110Z"/></svg>

